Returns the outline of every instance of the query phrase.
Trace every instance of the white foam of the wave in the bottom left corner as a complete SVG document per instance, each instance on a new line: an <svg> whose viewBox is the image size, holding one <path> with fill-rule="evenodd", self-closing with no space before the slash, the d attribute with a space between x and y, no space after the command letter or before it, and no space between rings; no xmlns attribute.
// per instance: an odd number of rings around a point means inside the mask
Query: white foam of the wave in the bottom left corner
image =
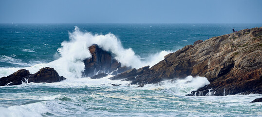
<svg viewBox="0 0 262 117"><path fill-rule="evenodd" d="M45 102L37 102L27 105L0 107L1 117L42 117L41 114L47 113L48 109Z"/></svg>

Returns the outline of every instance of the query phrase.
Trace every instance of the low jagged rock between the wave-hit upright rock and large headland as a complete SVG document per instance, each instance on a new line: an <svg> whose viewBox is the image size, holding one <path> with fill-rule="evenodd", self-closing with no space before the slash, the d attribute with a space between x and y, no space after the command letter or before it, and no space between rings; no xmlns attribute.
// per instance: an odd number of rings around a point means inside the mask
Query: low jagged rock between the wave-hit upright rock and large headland
<svg viewBox="0 0 262 117"><path fill-rule="evenodd" d="M111 80L118 80L118 79L123 79L123 80L127 80L127 81L134 81L137 75L141 75L143 72L146 72L149 70L149 66L145 66L142 67L138 70L136 70L135 68L125 71L123 73L117 74L116 76L113 76L109 79Z"/></svg>

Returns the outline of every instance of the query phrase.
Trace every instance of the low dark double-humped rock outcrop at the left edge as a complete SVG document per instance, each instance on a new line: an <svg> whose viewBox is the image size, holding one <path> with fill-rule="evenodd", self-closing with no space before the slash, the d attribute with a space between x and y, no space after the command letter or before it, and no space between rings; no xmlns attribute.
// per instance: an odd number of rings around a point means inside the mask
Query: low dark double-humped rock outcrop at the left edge
<svg viewBox="0 0 262 117"><path fill-rule="evenodd" d="M19 85L22 82L59 82L66 78L59 77L54 68L41 68L37 73L30 74L28 70L21 69L9 75L8 77L0 78L0 86Z"/></svg>

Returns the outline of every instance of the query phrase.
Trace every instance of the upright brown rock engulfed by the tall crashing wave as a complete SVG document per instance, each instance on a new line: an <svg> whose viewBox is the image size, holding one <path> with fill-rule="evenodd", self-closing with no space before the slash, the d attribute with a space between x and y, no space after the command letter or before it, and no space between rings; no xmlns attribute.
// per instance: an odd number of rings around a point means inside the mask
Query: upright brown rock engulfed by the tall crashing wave
<svg viewBox="0 0 262 117"><path fill-rule="evenodd" d="M89 51L92 58L84 60L84 76L93 77L100 73L109 74L121 68L121 64L116 59L113 59L109 52L102 50L96 44L90 46Z"/></svg>

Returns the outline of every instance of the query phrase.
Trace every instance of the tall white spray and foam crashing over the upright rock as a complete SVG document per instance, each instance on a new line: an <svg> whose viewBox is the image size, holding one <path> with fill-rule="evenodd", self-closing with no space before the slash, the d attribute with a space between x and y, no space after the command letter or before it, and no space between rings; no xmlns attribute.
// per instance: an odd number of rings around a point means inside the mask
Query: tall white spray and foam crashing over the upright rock
<svg viewBox="0 0 262 117"><path fill-rule="evenodd" d="M69 41L63 41L61 48L58 48L60 58L49 63L40 63L31 67L20 67L20 68L0 68L0 77L6 77L19 69L29 70L30 73L36 73L42 67L53 67L60 76L65 78L81 78L82 72L84 71L84 59L91 58L91 54L88 47L97 44L105 51L111 52L123 66L131 66L132 68L141 68L146 65L153 66L160 60L164 59L164 56L171 51L161 51L153 55L149 55L146 61L141 61L140 57L135 55L134 51L124 49L122 43L113 34L109 33L106 35L91 34L89 32L81 32L78 27L75 26L75 31L69 33ZM57 58L57 53L54 57ZM10 63L21 63L20 59L12 59L11 57L2 56L6 62L9 60Z"/></svg>

